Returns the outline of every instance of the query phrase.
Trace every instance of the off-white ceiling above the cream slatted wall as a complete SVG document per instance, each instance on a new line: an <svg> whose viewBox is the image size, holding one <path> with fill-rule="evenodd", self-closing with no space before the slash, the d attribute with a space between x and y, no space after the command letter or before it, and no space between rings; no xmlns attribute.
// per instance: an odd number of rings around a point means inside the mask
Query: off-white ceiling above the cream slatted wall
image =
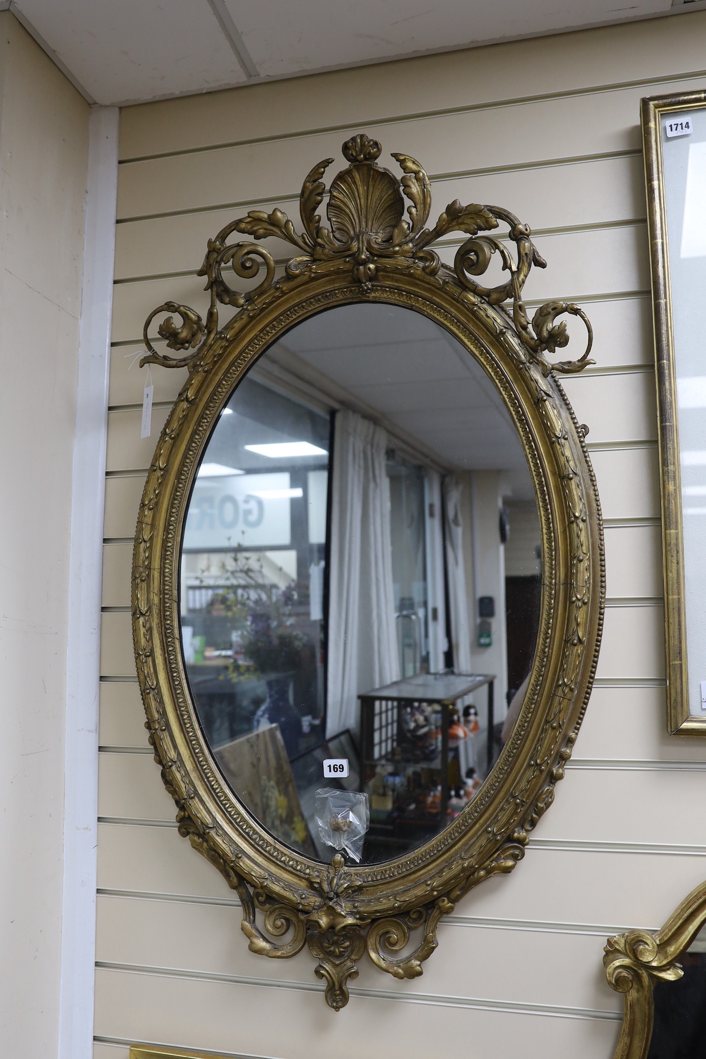
<svg viewBox="0 0 706 1059"><path fill-rule="evenodd" d="M185 95L242 84L221 31L231 22L260 77L463 49L490 40L650 17L671 0L17 0L16 8L98 102ZM688 10L685 5L674 11ZM252 59L252 61L251 61Z"/></svg>

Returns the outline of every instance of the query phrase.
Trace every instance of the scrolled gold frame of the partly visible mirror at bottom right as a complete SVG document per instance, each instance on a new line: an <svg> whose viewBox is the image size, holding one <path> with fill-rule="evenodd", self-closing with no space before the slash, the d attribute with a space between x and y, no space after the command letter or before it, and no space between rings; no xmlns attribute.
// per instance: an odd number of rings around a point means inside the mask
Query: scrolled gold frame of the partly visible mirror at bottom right
<svg viewBox="0 0 706 1059"><path fill-rule="evenodd" d="M692 890L658 931L631 930L609 937L603 956L608 984L624 1000L622 1029L613 1059L645 1059L654 1024L652 991L684 974L677 959L706 923L706 882Z"/></svg>

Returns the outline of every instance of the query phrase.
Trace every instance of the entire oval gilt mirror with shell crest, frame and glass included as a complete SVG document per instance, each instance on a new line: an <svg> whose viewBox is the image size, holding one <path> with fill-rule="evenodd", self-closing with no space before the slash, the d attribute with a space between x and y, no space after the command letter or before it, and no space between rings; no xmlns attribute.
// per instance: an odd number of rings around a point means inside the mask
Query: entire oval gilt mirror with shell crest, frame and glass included
<svg viewBox="0 0 706 1059"><path fill-rule="evenodd" d="M150 741L251 950L308 945L336 1009L365 951L420 974L439 918L521 859L603 605L586 428L555 375L589 349L545 356L568 340L559 316L587 321L551 302L530 323L529 229L458 202L424 228L423 169L394 155L400 179L380 152L348 141L328 190L331 160L312 169L301 234L253 211L210 240L205 322L167 303L145 325L145 359L189 370L135 539ZM284 272L275 238L294 245ZM265 279L235 290L228 265ZM150 344L155 317L181 355Z"/></svg>

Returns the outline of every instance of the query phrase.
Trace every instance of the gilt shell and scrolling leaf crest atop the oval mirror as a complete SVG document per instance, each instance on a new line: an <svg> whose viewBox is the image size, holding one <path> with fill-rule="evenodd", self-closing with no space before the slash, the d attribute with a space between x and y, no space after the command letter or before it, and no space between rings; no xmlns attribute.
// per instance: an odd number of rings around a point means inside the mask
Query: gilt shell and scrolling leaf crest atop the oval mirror
<svg viewBox="0 0 706 1059"><path fill-rule="evenodd" d="M522 301L522 289L530 269L546 268L546 262L531 241L527 225L501 207L471 203L461 205L458 199L450 202L438 216L433 228L424 228L432 205L431 184L419 162L409 155L393 154L400 166L398 177L378 164L382 147L365 133L351 137L343 144L343 157L349 163L330 182L323 180L333 162L326 158L319 162L306 177L300 196L300 233L286 213L274 209L271 213L251 210L246 217L231 221L210 239L206 254L198 275L206 277L205 289L211 291L211 305L205 323L198 312L185 305L167 302L155 309L145 323L144 339L147 356L141 363L158 363L165 367L188 366L202 358L218 335L218 305L235 309L256 308L275 283L275 262L264 247L253 243L229 244L234 232L253 239L275 238L293 246L297 253L285 264L285 275L295 280L304 272L315 273L324 263L339 263L350 270L361 291L370 294L382 271L391 267L418 269L426 275L438 276L442 282L455 283L476 299L489 305L512 303L511 316L517 334L529 356L545 374L580 372L589 360L593 342L591 324L585 313L569 302L547 302L535 312L531 321ZM328 195L326 216L329 227L322 225L316 213ZM404 204L408 201L404 219ZM506 225L504 235L481 234L494 232L500 223ZM431 249L439 239L460 233L469 236L456 251L453 269L442 265L437 250ZM514 244L514 254L508 244ZM495 286L485 286L478 281L488 271L493 255L497 256L507 280ZM231 266L235 275L252 280L265 267L265 277L252 290L233 289L223 279L222 270ZM184 357L171 358L158 353L149 341L148 327L162 312L179 313L182 324L178 327L168 317L158 328L161 338L167 339L169 349L194 349ZM565 322L557 323L560 316L578 317L585 324L589 340L585 352L578 360L551 363L544 356L564 348L568 343Z"/></svg>

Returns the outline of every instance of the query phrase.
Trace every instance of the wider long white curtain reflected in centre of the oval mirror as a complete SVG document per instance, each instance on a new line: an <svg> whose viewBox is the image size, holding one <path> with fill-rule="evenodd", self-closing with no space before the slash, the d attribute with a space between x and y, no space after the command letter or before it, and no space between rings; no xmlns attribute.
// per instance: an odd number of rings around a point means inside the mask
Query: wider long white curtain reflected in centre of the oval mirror
<svg viewBox="0 0 706 1059"><path fill-rule="evenodd" d="M387 434L337 413L331 481L327 737L357 735L358 696L398 680Z"/></svg>

